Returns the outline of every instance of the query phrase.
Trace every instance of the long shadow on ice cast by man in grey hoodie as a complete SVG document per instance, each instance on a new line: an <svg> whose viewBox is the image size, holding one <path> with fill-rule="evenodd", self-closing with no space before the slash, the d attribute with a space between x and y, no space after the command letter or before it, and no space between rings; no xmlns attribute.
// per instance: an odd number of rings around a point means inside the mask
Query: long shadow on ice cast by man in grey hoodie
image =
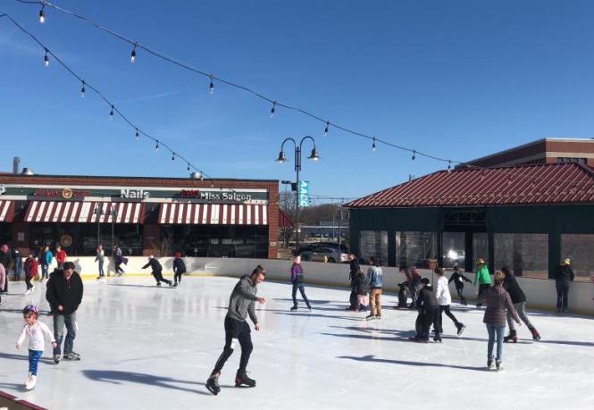
<svg viewBox="0 0 594 410"><path fill-rule="evenodd" d="M175 386L177 383L193 384L198 386L205 386L205 383L199 383L197 381L187 381L172 379L171 377L155 376L153 374L138 373L138 372L118 372L113 370L83 370L82 373L92 381L105 381L112 384L124 384L124 383L139 383L146 384L147 386L155 386L165 389L188 391L190 393L198 393L206 396L211 396L210 393L200 391L197 389L188 389L179 386ZM222 386L230 387L230 386Z"/></svg>

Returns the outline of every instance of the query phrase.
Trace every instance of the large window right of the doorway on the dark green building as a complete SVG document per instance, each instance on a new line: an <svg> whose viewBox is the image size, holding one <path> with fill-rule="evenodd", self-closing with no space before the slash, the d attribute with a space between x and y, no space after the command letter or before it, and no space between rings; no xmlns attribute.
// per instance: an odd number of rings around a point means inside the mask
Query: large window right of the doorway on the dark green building
<svg viewBox="0 0 594 410"><path fill-rule="evenodd" d="M508 266L515 276L548 279L548 234L496 233L495 269Z"/></svg>

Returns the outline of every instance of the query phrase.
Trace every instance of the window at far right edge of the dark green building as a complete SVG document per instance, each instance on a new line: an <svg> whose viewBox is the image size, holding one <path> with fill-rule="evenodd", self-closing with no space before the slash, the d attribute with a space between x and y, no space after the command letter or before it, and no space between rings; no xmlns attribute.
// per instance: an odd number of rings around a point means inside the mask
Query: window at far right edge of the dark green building
<svg viewBox="0 0 594 410"><path fill-rule="evenodd" d="M588 281L594 275L594 235L562 234L561 255L572 260L575 280Z"/></svg>

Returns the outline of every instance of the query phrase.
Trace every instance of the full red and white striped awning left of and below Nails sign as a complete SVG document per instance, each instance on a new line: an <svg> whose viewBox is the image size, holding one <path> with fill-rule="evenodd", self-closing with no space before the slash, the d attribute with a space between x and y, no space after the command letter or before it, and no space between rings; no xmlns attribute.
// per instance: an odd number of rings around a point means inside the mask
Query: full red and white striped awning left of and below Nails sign
<svg viewBox="0 0 594 410"><path fill-rule="evenodd" d="M25 222L111 223L112 215L114 223L142 223L142 203L31 201Z"/></svg>

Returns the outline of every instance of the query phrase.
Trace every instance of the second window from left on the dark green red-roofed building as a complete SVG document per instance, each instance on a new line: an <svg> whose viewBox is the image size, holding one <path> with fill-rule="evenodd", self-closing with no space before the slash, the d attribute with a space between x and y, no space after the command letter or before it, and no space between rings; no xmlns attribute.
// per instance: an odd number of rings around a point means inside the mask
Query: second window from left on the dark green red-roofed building
<svg viewBox="0 0 594 410"><path fill-rule="evenodd" d="M429 268L430 260L437 258L437 232L396 232L396 263L399 267Z"/></svg>

